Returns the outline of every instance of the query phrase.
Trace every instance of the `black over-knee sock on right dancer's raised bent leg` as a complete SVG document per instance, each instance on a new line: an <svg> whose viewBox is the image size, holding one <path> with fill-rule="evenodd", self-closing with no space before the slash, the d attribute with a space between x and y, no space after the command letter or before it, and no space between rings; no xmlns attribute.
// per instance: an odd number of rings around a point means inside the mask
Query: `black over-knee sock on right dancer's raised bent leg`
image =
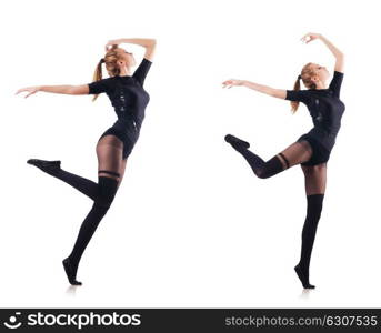
<svg viewBox="0 0 381 333"><path fill-rule="evenodd" d="M244 144L247 143L245 141L235 137L232 138L234 138L234 140L228 140L228 142L248 161L258 178L270 178L283 171L283 164L278 157L273 157L264 162L259 155L247 149L248 144Z"/></svg>

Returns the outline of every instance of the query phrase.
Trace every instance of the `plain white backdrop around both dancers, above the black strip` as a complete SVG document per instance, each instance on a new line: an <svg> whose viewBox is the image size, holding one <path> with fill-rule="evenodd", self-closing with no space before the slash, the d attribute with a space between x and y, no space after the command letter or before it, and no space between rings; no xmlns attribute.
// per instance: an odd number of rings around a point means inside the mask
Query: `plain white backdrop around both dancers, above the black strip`
<svg viewBox="0 0 381 333"><path fill-rule="evenodd" d="M1 3L1 306L380 306L378 1L8 1ZM303 174L268 180L223 140L268 160L312 127L303 104L235 78L292 89L307 62L347 56L342 128L311 262L293 272L305 216ZM71 287L62 269L91 200L29 165L59 159L97 180L96 143L116 120L106 94L14 92L92 81L104 44L156 38L151 100L116 200ZM122 44L139 63L143 49ZM103 68L104 70L104 68ZM103 75L107 77L106 71ZM327 82L329 83L329 82ZM303 87L304 89L304 87Z"/></svg>

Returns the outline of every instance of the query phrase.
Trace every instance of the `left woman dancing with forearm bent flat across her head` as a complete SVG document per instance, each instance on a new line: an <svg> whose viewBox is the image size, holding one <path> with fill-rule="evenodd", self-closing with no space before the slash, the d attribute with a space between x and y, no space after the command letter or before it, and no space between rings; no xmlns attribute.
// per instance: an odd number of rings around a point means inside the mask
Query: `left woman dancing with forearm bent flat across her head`
<svg viewBox="0 0 381 333"><path fill-rule="evenodd" d="M137 70L132 53L119 48L120 43L133 43L146 48L146 53ZM109 210L117 190L122 181L127 158L136 144L144 118L149 94L143 89L146 75L151 67L156 49L154 39L118 39L106 44L106 56L96 69L94 82L82 85L40 85L28 87L17 91L28 91L29 97L38 91L66 94L98 94L106 92L118 115L111 128L102 133L97 143L98 183L61 169L61 161L28 160L46 173L56 176L93 200L93 205L86 216L76 244L68 258L62 261L68 280L80 285L76 280L80 259L92 238L99 222ZM102 79L102 63L109 78Z"/></svg>

